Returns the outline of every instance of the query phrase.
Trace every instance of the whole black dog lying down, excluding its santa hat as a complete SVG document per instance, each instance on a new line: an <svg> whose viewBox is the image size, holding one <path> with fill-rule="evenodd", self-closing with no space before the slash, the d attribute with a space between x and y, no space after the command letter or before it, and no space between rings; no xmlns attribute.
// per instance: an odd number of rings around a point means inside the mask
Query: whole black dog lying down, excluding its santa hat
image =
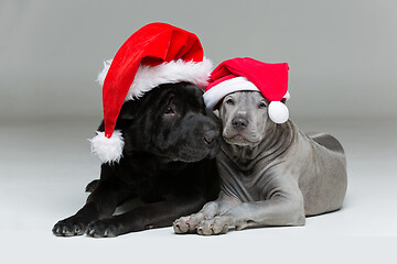
<svg viewBox="0 0 397 264"><path fill-rule="evenodd" d="M122 157L101 165L100 179L87 186L93 193L86 205L57 222L55 235L116 237L169 227L216 199L219 125L196 86L161 85L125 102L116 129L125 139ZM146 204L112 216L135 197Z"/></svg>

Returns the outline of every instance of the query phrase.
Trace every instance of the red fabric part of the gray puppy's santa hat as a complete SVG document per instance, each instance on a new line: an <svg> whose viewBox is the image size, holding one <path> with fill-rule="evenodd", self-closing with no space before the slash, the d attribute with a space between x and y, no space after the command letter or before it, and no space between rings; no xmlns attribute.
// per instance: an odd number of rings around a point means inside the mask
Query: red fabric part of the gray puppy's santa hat
<svg viewBox="0 0 397 264"><path fill-rule="evenodd" d="M288 64L269 64L250 57L237 57L223 62L211 73L210 85L205 91L230 76L246 77L268 101L281 101L288 90Z"/></svg>

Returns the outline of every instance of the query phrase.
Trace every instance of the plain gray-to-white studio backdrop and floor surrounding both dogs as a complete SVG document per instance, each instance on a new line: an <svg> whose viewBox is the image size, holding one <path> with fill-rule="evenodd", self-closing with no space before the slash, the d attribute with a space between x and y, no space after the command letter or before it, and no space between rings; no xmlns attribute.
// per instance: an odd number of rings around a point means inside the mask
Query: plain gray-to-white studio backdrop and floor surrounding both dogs
<svg viewBox="0 0 397 264"><path fill-rule="evenodd" d="M0 0L0 249L4 263L397 263L397 1ZM347 155L342 210L300 228L203 238L171 228L56 238L99 175L86 139L101 119L103 61L142 25L195 32L215 65L290 64L302 131Z"/></svg>

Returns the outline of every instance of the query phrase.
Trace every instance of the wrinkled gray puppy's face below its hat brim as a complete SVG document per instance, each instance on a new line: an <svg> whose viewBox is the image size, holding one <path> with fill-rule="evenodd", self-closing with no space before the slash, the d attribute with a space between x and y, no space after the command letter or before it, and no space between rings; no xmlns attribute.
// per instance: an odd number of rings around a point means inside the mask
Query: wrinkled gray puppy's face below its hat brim
<svg viewBox="0 0 397 264"><path fill-rule="evenodd" d="M271 130L269 101L259 91L236 91L227 95L219 106L223 138L228 144L256 146Z"/></svg>

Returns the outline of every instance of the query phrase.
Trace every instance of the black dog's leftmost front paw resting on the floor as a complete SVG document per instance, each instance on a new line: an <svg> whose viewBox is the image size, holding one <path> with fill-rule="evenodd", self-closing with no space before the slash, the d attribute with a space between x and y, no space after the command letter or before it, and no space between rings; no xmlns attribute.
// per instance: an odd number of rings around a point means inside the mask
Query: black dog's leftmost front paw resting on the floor
<svg viewBox="0 0 397 264"><path fill-rule="evenodd" d="M55 223L52 231L57 237L82 235L85 233L88 222L83 218L73 216Z"/></svg>

